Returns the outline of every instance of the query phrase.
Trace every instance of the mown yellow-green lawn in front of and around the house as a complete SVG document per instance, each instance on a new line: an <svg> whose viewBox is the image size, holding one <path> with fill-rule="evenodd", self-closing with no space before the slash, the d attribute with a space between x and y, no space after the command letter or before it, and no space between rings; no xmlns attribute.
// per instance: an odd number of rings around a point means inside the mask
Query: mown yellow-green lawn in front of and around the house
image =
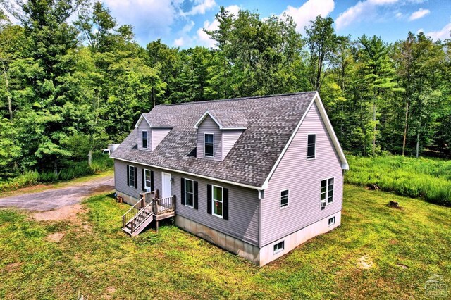
<svg viewBox="0 0 451 300"><path fill-rule="evenodd" d="M130 238L111 195L85 206L78 222L0 211L0 298L417 299L434 274L451 284L451 208L421 199L345 185L342 225L263 268L170 224Z"/></svg>

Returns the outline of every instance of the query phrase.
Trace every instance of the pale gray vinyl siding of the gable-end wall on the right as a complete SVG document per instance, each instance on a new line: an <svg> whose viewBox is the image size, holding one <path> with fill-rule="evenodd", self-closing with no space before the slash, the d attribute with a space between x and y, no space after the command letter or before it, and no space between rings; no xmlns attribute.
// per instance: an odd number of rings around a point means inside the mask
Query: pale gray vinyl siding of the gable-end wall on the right
<svg viewBox="0 0 451 300"><path fill-rule="evenodd" d="M307 135L311 133L316 134L316 158L307 161ZM330 177L335 177L333 203L321 209L321 180ZM261 246L341 211L342 183L340 158L313 104L264 191ZM280 208L284 189L290 189L288 207Z"/></svg>

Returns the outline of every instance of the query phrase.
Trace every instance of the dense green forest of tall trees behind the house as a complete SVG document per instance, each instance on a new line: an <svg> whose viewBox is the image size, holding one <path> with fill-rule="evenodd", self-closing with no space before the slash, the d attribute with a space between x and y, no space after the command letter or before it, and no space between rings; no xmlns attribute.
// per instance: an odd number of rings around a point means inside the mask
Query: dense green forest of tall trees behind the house
<svg viewBox="0 0 451 300"><path fill-rule="evenodd" d="M302 36L288 15L221 7L218 29L206 31L214 49L143 47L101 2L0 6L2 180L90 165L159 104L310 90L347 154L451 154L451 39L352 39L321 16Z"/></svg>

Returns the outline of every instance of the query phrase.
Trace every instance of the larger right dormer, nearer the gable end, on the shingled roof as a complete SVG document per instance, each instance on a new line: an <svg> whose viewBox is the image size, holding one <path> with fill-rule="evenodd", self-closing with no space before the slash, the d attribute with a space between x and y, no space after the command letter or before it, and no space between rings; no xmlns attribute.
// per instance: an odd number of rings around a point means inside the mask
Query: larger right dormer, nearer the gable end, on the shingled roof
<svg viewBox="0 0 451 300"><path fill-rule="evenodd" d="M197 158L223 161L247 128L245 115L235 111L206 111L197 120Z"/></svg>

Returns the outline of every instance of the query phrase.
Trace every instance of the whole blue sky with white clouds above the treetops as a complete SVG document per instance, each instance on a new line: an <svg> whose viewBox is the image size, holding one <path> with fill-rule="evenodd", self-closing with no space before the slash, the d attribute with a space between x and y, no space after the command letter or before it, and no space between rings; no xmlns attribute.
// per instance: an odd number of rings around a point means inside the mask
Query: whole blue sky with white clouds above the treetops
<svg viewBox="0 0 451 300"><path fill-rule="evenodd" d="M423 31L433 39L450 38L451 0L104 0L120 24L135 28L142 46L161 38L169 46L214 46L202 31L215 29L219 6L237 13L240 9L260 13L262 18L288 13L304 34L304 26L316 15L330 15L339 35L357 38L381 36L386 42Z"/></svg>

